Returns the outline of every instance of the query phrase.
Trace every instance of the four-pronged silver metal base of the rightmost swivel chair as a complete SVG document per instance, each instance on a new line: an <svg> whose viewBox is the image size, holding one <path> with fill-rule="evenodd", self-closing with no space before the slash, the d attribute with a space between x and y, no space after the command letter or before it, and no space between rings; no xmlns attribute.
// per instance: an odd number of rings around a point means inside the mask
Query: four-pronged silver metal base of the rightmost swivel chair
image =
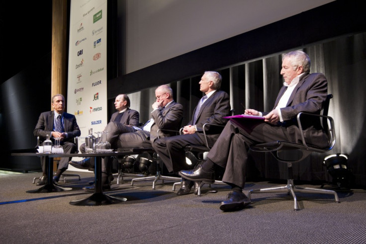
<svg viewBox="0 0 366 244"><path fill-rule="evenodd" d="M334 195L335 201L337 203L340 203L337 192L335 192L333 190L296 186L293 183L293 179L287 179L287 185L285 185L285 186L250 190L249 193L248 193L248 198L251 199L251 195L253 193L270 193L270 192L286 192L287 194L291 194L291 196L293 198L293 201L294 201L293 210L299 210L300 209L299 206L298 206L298 203L297 203L297 198L296 198L295 192Z"/></svg>

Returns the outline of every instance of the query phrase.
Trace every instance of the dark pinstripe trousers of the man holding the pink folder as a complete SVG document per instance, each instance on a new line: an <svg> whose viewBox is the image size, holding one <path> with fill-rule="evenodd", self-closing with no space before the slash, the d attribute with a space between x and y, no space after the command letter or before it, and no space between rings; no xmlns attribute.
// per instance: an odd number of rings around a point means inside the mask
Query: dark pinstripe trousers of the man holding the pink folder
<svg viewBox="0 0 366 244"><path fill-rule="evenodd" d="M313 130L312 132L317 133L318 138L306 138L307 143L318 143L320 146L326 145L327 139L324 134L319 139L319 133L321 132L319 130ZM244 188L250 146L273 141L301 143L300 138L300 131L295 125L282 127L254 120L240 120L240 122L230 120L215 145L211 148L207 158L225 168L222 181Z"/></svg>

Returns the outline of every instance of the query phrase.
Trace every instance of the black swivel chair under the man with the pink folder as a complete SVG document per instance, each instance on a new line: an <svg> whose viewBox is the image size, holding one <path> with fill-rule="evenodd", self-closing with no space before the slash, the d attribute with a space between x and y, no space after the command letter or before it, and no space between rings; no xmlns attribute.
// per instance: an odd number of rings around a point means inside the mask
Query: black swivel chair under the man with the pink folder
<svg viewBox="0 0 366 244"><path fill-rule="evenodd" d="M251 195L253 193L286 192L287 194L291 194L291 196L294 199L294 207L293 207L294 210L299 210L295 192L331 194L331 195L334 195L335 201L337 203L340 202L338 195L335 191L296 186L293 183L293 176L292 176L292 163L300 162L301 160L303 160L307 156L309 156L312 152L325 153L325 152L330 151L334 147L334 145L336 143L334 121L333 121L332 117L328 116L329 102L332 97L333 97L332 94L329 94L327 96L327 99L324 102L324 106L323 106L324 107L323 114L321 114L321 115L304 113L304 112L300 112L297 114L297 123L298 123L299 128L302 128L301 119L303 117L316 116L321 120L323 129L327 133L327 136L328 136L329 144L326 148L318 148L316 146L307 145L305 143L303 133L301 134L302 142L303 142L302 144L275 141L275 142L271 142L271 143L258 144L258 145L250 147L250 150L252 150L254 152L271 152L272 155L277 159L277 161L286 163L288 175L287 175L287 184L285 186L250 190L248 193L249 199L251 198ZM288 157L288 154L294 150L300 151L301 157L298 157L297 159L290 159Z"/></svg>

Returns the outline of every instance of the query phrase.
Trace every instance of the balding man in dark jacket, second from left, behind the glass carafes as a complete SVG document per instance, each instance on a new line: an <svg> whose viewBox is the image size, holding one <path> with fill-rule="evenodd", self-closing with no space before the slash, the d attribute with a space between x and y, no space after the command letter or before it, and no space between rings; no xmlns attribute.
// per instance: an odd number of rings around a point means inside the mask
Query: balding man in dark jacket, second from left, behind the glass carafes
<svg viewBox="0 0 366 244"><path fill-rule="evenodd" d="M119 94L116 96L114 106L117 111L112 114L104 131L109 131L111 125L118 128L118 131L115 131L114 133L127 133L134 131L133 127L139 125L140 114L136 110L130 109L130 104L130 98L126 94ZM80 146L80 151L85 153L85 143ZM69 163L76 168L91 169L94 167L94 158L86 158L81 161L70 161ZM113 178L111 166L112 164L109 159L107 161L102 160L102 181L104 182L104 185L107 185L106 188L108 188L108 184ZM90 190L93 190L93 187L84 188L91 188Z"/></svg>

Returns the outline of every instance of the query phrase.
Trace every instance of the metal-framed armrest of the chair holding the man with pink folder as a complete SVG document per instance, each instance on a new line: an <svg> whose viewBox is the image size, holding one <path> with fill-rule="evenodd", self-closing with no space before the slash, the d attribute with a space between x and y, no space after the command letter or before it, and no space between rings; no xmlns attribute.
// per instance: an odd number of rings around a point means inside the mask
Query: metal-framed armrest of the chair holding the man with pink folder
<svg viewBox="0 0 366 244"><path fill-rule="evenodd" d="M335 133L335 126L334 126L333 118L330 116L326 116L326 115L312 114L312 113L306 113L306 112L300 112L297 114L296 119L297 119L297 125L301 131L300 135L301 135L302 144L308 150L314 150L314 147L308 146L305 142L304 130L302 129L302 126L301 126L301 116L302 115L318 117L319 120L323 120L323 129L327 133L328 140L329 140L328 150L331 150L336 143L336 133ZM327 124L324 125L324 122L326 122Z"/></svg>

